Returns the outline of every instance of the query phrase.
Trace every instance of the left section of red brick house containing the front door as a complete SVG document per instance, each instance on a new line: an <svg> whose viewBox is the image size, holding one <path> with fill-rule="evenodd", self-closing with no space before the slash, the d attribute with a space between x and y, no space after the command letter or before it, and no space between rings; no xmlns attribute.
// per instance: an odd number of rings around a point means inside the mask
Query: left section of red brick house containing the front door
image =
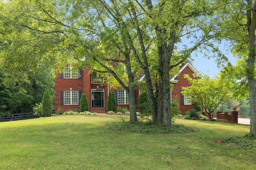
<svg viewBox="0 0 256 170"><path fill-rule="evenodd" d="M74 110L79 107L82 94L86 94L91 112L105 113L109 91L114 91L116 104L129 109L128 94L121 87L110 89L109 84L103 84L104 78L95 72L89 74L90 69L74 71L66 66L62 73L55 78L55 110L59 107L63 111ZM136 105L138 105L139 91L135 92Z"/></svg>

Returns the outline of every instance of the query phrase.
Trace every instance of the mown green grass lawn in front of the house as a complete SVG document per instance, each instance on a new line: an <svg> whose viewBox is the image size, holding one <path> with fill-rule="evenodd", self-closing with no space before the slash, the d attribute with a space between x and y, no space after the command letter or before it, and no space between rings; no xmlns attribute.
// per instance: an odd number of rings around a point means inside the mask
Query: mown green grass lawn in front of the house
<svg viewBox="0 0 256 170"><path fill-rule="evenodd" d="M176 125L199 130L184 134L140 134L100 127L120 121L118 117L61 115L0 122L0 169L255 169L255 154L213 142L242 137L249 133L249 126L176 119Z"/></svg>

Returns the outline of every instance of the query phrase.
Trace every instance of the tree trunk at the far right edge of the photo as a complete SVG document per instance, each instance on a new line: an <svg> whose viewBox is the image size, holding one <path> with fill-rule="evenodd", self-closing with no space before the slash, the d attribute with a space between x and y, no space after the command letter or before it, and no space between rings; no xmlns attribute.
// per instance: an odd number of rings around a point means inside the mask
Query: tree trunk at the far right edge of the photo
<svg viewBox="0 0 256 170"><path fill-rule="evenodd" d="M247 1L247 29L248 29L248 59L246 60L246 76L248 78L248 91L250 100L250 133L256 136L256 88L255 88L255 30L256 30L256 4Z"/></svg>

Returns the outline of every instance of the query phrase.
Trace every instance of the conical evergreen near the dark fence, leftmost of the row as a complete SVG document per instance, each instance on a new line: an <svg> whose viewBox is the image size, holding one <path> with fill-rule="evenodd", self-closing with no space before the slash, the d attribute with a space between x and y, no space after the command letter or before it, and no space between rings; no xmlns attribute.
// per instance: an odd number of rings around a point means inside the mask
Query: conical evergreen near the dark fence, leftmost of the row
<svg viewBox="0 0 256 170"><path fill-rule="evenodd" d="M52 99L48 90L44 91L42 100L42 117L48 117L52 114Z"/></svg>

